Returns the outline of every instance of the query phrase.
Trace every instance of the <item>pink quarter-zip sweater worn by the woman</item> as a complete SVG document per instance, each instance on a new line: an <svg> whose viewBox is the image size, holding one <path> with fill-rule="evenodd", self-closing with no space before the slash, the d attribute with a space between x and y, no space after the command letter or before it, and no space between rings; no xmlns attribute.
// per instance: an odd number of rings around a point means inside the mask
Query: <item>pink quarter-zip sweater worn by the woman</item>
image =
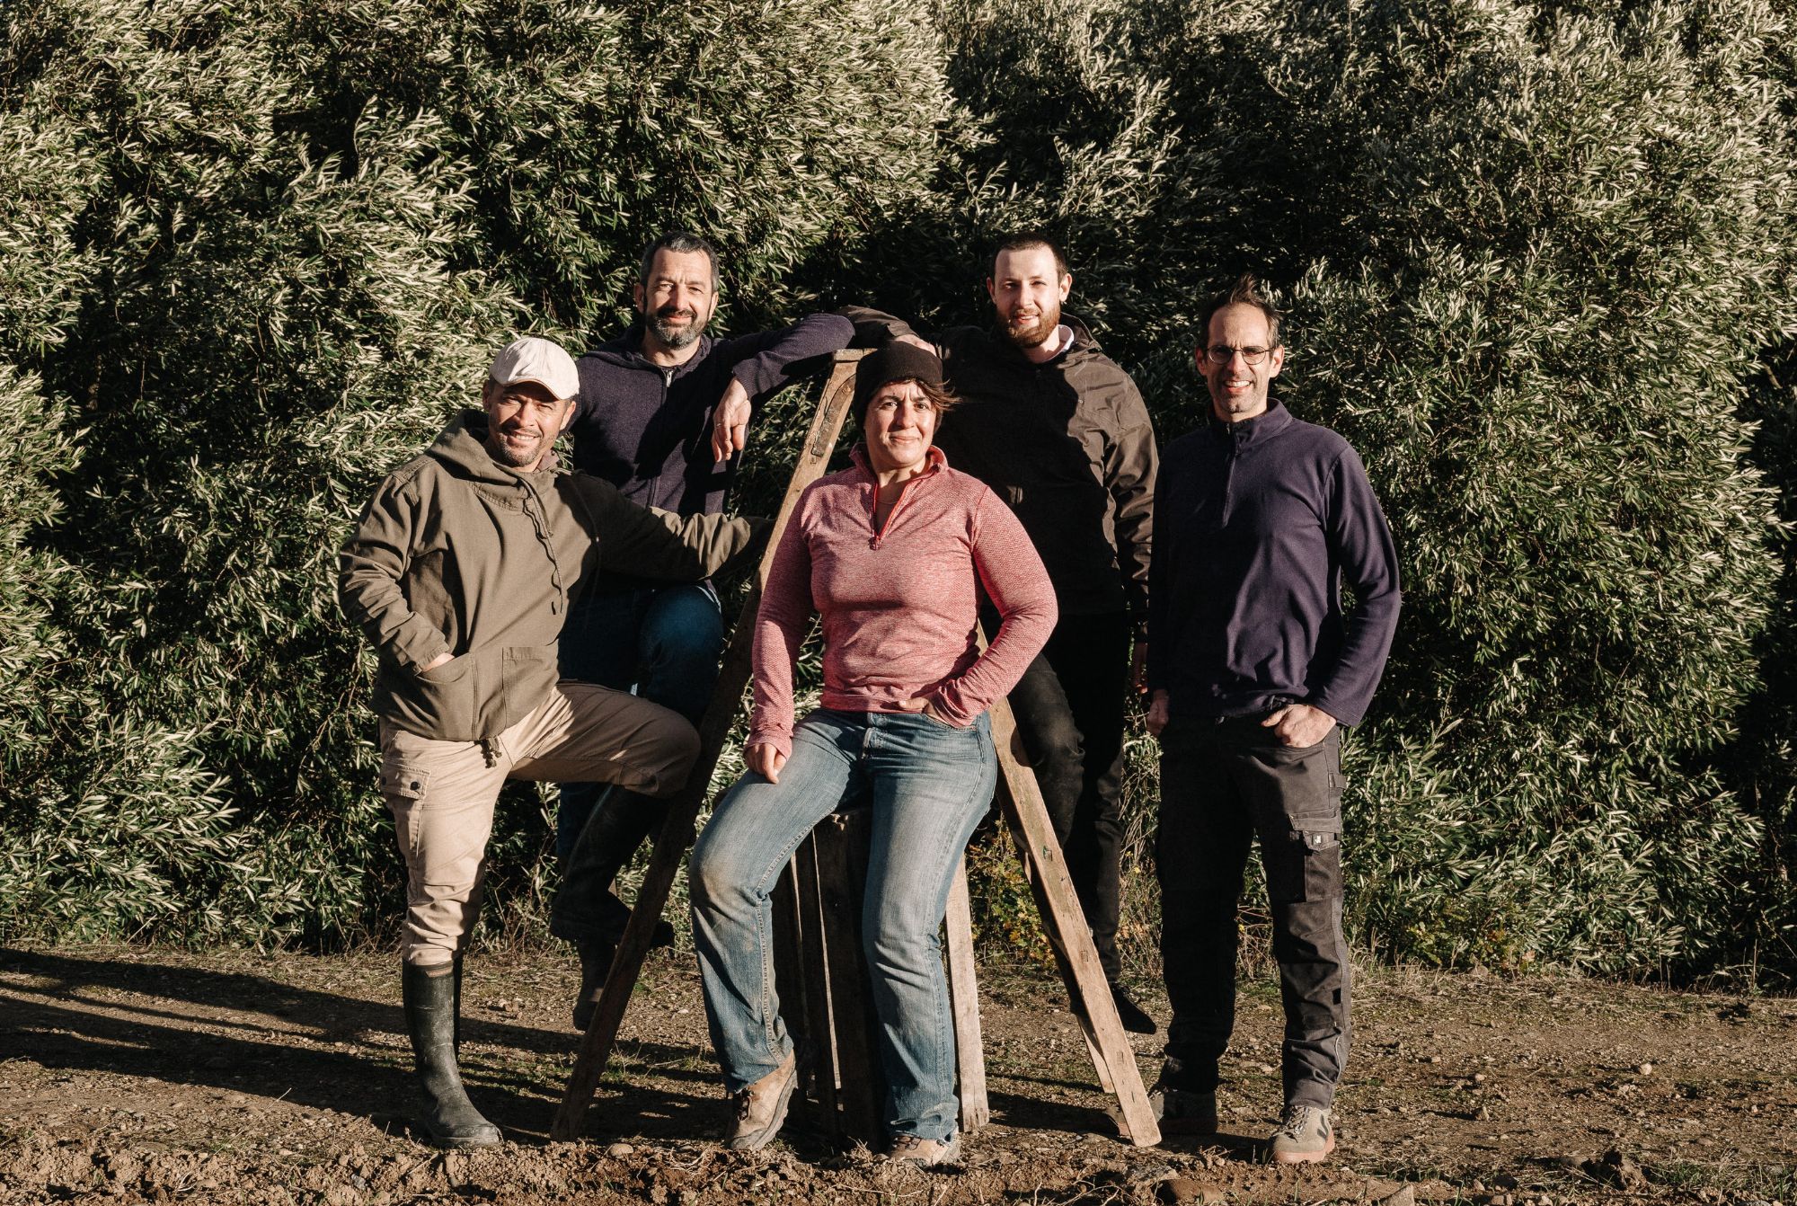
<svg viewBox="0 0 1797 1206"><path fill-rule="evenodd" d="M823 616L825 708L902 712L927 696L961 726L1017 685L1055 627L1048 570L983 482L931 448L875 530L861 448L854 462L805 489L775 552L755 616L751 746L792 753L792 663L812 613ZM1003 618L983 654L981 590Z"/></svg>

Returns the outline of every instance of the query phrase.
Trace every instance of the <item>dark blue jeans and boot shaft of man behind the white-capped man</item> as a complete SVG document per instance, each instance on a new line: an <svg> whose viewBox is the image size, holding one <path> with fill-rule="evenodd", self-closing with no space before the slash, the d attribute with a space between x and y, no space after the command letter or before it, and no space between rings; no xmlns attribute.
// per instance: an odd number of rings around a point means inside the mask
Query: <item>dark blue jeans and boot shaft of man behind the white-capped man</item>
<svg viewBox="0 0 1797 1206"><path fill-rule="evenodd" d="M724 616L710 582L643 586L589 595L568 609L561 676L634 690L697 724L712 703L722 649ZM665 818L667 800L604 784L562 784L555 809L562 890L550 933L616 942L629 909L611 895L611 881Z"/></svg>

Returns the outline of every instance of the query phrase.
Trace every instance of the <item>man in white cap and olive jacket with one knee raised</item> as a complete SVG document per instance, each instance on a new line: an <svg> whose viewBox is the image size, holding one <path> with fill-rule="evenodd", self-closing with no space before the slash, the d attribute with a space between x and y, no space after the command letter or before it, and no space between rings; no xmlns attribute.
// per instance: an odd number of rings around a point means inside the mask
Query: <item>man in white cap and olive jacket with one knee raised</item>
<svg viewBox="0 0 1797 1206"><path fill-rule="evenodd" d="M500 785L597 780L661 798L685 784L699 749L692 724L659 705L559 681L570 593L600 568L703 581L764 527L681 519L559 471L552 446L577 392L561 347L509 345L482 410L462 412L388 474L338 559L343 615L379 654L381 791L408 877L406 1028L424 1129L442 1147L500 1141L467 1100L455 1055L460 954Z"/></svg>

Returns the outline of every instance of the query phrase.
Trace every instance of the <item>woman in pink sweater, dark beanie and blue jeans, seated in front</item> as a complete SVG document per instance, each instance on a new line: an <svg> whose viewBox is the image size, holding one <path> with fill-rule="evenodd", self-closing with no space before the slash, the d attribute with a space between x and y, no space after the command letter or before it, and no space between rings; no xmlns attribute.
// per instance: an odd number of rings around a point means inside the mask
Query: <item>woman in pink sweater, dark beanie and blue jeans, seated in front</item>
<svg viewBox="0 0 1797 1206"><path fill-rule="evenodd" d="M933 448L951 404L931 352L891 343L861 361L855 464L800 498L762 595L749 773L717 805L690 872L735 1148L773 1139L794 1082L769 893L805 834L845 798L866 796L863 944L886 1127L900 1159L934 1165L960 1150L936 931L997 780L987 706L1053 631L1055 591L1010 509ZM1001 616L985 652L974 633L981 595ZM823 706L794 726L792 663L812 615L823 616Z"/></svg>

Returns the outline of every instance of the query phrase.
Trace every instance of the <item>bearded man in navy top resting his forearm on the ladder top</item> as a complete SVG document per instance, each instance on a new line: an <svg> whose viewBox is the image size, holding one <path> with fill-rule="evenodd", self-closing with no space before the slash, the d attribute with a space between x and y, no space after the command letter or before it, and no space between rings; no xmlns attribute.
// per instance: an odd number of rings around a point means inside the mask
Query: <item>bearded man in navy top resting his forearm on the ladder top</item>
<svg viewBox="0 0 1797 1206"><path fill-rule="evenodd" d="M715 340L706 327L717 298L717 250L701 235L672 230L643 250L631 289L636 322L577 367L570 426L577 469L645 507L715 514L758 403L821 368L854 334L836 315L809 315L785 329ZM697 724L722 649L724 618L710 582L602 573L570 604L561 660L568 678L634 688ZM555 814L564 875L609 886L665 816L661 802L638 793L564 782ZM582 1030L629 920L616 895L597 904L597 918L559 900L550 913L550 933L580 953L573 1021ZM656 933L672 942L665 922Z"/></svg>

